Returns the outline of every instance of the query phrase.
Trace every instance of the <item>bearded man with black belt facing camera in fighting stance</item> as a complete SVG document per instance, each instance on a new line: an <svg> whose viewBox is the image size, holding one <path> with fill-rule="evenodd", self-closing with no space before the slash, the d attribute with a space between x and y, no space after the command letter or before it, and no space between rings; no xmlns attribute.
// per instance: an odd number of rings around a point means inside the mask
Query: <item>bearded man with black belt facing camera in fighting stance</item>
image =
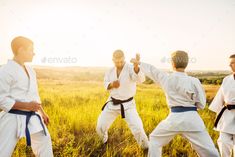
<svg viewBox="0 0 235 157"><path fill-rule="evenodd" d="M147 149L148 138L133 99L136 93L136 82L143 82L145 76L138 66L133 67L125 62L125 56L121 50L116 50L113 53L113 62L115 67L110 69L104 78L104 87L110 92L110 96L99 115L97 133L103 143L107 143L108 129L117 116L121 114L137 143L143 149Z"/></svg>

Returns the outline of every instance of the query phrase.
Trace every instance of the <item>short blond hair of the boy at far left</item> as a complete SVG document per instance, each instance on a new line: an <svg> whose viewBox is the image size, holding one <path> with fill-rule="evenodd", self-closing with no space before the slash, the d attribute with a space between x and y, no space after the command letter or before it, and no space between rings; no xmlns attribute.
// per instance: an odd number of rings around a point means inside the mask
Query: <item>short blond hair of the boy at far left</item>
<svg viewBox="0 0 235 157"><path fill-rule="evenodd" d="M25 47L28 46L29 44L33 44L33 41L23 36L15 37L11 41L12 52L16 55L20 47Z"/></svg>

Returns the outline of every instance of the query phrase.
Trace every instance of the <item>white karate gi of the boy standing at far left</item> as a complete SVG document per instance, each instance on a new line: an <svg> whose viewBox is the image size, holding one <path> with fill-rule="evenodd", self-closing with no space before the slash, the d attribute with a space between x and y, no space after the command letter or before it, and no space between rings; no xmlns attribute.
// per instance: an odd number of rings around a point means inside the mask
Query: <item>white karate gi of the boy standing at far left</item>
<svg viewBox="0 0 235 157"><path fill-rule="evenodd" d="M0 156L10 157L21 137L25 137L26 116L8 113L16 101L40 103L36 74L26 66L24 68L13 60L0 68ZM44 125L46 128L46 126ZM37 116L32 116L28 128L31 135L32 150L37 157L52 157L52 143L46 128L43 134L42 125Z"/></svg>

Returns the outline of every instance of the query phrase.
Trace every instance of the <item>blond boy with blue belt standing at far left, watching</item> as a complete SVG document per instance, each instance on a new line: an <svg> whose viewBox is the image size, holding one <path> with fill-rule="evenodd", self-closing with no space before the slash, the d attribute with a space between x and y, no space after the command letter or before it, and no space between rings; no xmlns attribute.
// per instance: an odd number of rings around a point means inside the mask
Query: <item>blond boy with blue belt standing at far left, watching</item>
<svg viewBox="0 0 235 157"><path fill-rule="evenodd" d="M19 36L12 40L13 60L0 68L0 156L10 157L21 137L26 137L36 157L52 157L52 143L45 124L36 74L25 65L34 56L33 42ZM44 124L45 123L45 124Z"/></svg>

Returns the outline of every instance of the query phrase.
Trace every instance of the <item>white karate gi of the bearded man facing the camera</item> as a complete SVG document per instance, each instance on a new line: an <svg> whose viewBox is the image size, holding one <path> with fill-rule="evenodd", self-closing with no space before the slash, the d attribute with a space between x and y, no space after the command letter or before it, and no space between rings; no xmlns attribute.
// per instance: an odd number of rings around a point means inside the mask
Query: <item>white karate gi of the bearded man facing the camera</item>
<svg viewBox="0 0 235 157"><path fill-rule="evenodd" d="M126 100L133 97L136 93L136 82L143 82L145 76L141 71L138 74L134 72L134 67L125 63L119 78L117 78L117 69L116 67L110 69L104 78L104 87L108 89L108 86L113 81L119 80L120 86L117 89L109 90L110 96L107 100L107 105L104 107L104 110L101 112L97 122L97 133L101 137L104 143L108 140L108 129L121 113L120 105L113 105L113 102L110 101L111 97L118 100ZM123 103L124 112L125 112L125 121L127 122L132 134L134 135L137 143L142 148L148 148L148 138L145 134L142 120L140 119L134 99Z"/></svg>

